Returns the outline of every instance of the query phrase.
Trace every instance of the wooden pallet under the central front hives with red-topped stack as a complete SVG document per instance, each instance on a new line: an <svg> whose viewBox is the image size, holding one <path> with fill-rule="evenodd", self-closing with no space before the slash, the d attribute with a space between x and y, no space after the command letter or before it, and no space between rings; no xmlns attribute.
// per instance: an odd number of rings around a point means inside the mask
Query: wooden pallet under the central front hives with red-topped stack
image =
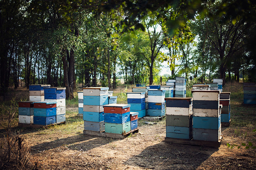
<svg viewBox="0 0 256 170"><path fill-rule="evenodd" d="M92 130L84 130L84 134L86 135L95 135L95 136L101 136L101 137L113 137L113 138L120 138L124 139L125 137L128 137L131 133L138 133L139 129L134 129L131 130L125 134L117 134L117 133L106 133L106 132L97 132L97 131L92 131Z"/></svg>

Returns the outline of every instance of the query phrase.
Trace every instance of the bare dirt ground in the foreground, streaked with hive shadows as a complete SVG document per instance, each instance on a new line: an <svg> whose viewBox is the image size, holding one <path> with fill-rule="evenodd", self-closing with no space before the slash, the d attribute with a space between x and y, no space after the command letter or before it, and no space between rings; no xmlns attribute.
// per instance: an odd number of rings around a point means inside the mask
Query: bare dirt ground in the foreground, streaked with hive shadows
<svg viewBox="0 0 256 170"><path fill-rule="evenodd" d="M237 137L235 128L223 127L217 149L164 142L165 120L154 125L140 121L139 133L122 140L84 135L83 128L79 126L75 134L56 130L50 135L43 133L45 129L23 128L22 134L39 169L256 169L256 149L227 147L248 143L255 139L254 132Z"/></svg>

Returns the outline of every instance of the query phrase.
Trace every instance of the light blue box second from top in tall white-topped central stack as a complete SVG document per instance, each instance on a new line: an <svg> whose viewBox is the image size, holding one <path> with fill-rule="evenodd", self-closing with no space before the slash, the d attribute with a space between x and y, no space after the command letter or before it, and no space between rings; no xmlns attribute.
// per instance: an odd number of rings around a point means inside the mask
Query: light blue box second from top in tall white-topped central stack
<svg viewBox="0 0 256 170"><path fill-rule="evenodd" d="M104 96L84 96L84 105L101 106L108 104L108 95Z"/></svg>

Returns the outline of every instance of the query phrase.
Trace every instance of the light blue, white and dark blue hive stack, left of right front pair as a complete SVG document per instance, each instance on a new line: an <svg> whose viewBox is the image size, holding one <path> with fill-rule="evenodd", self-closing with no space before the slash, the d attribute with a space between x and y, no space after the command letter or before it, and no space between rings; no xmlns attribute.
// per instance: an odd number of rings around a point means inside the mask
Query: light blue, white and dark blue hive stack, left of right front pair
<svg viewBox="0 0 256 170"><path fill-rule="evenodd" d="M148 115L164 116L165 115L165 90L149 89L148 90Z"/></svg>

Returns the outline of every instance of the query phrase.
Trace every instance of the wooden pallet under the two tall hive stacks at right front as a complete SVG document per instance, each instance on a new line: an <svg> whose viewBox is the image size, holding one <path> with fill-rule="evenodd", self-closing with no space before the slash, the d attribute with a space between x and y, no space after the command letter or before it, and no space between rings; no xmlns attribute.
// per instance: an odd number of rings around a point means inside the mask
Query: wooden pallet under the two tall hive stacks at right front
<svg viewBox="0 0 256 170"><path fill-rule="evenodd" d="M177 139L171 137L165 137L164 142L174 143L174 144L188 144L188 145L196 145L196 146L208 146L219 148L222 140L222 134L220 136L219 141L203 141L203 140L189 140L189 139Z"/></svg>

